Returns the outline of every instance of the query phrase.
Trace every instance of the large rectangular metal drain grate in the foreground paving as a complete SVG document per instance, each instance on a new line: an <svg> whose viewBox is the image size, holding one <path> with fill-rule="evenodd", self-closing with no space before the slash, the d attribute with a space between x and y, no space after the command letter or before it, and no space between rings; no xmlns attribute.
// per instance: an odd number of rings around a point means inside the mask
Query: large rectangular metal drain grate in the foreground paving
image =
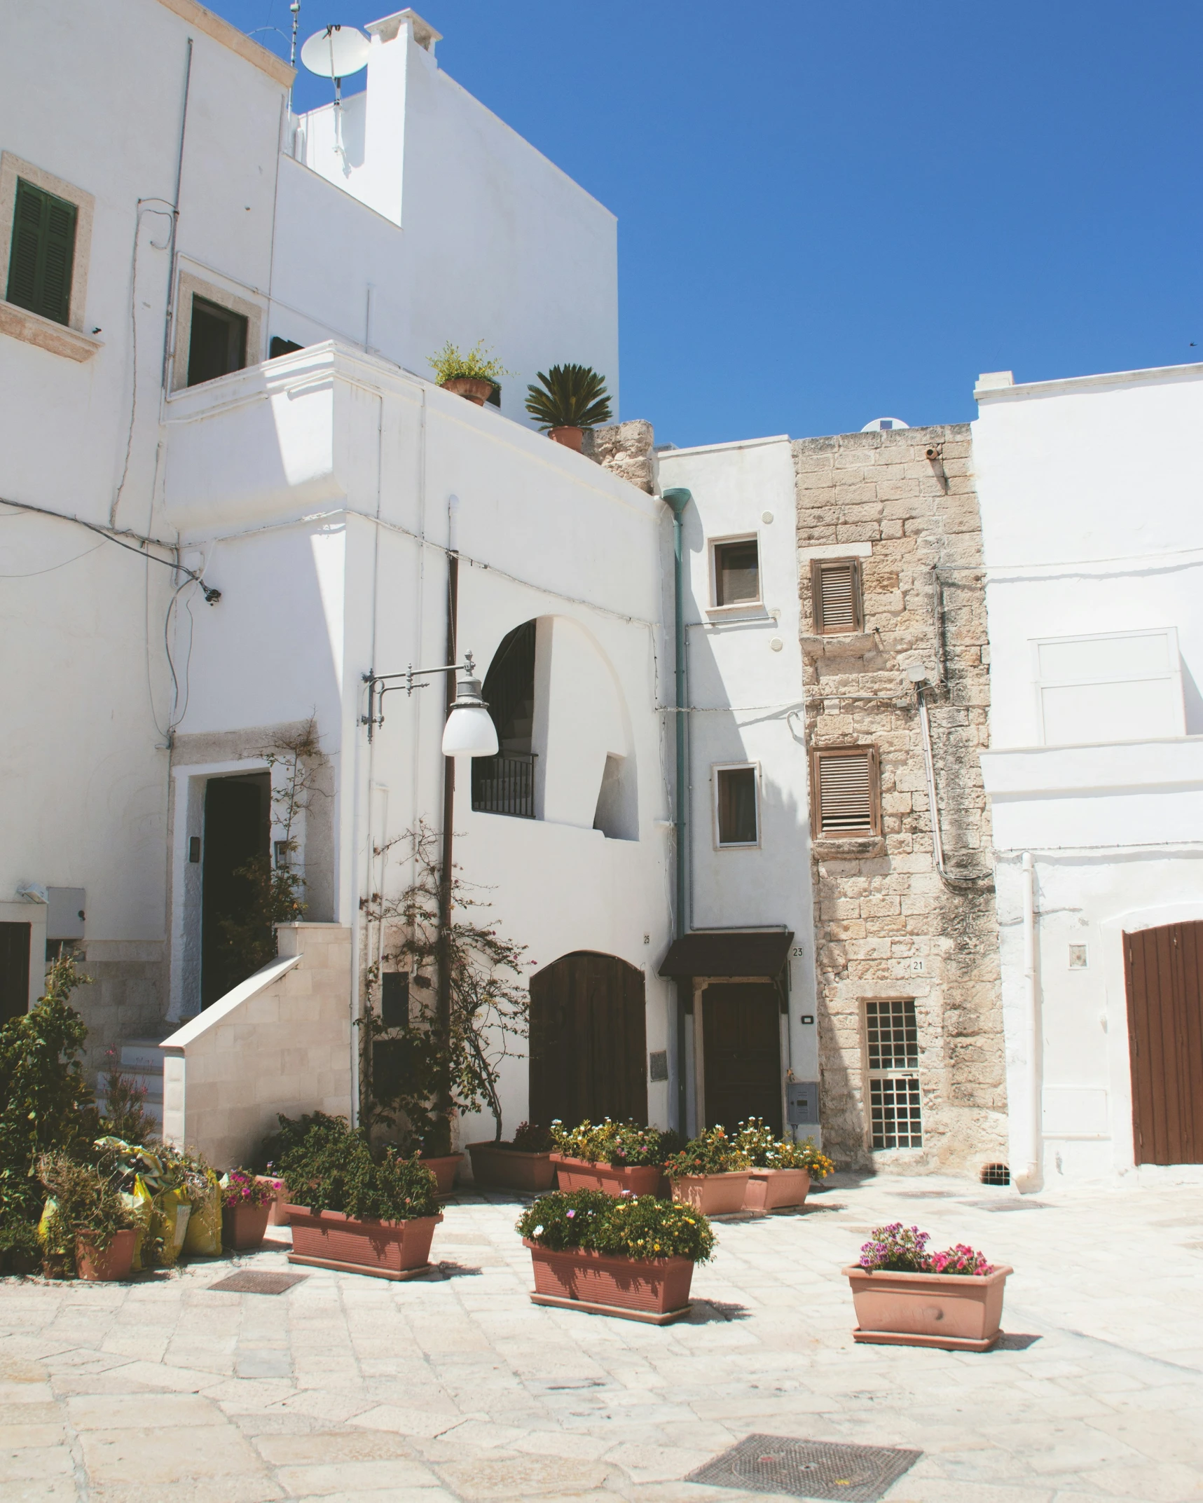
<svg viewBox="0 0 1203 1503"><path fill-rule="evenodd" d="M826 1440L749 1435L698 1471L690 1471L686 1482L786 1492L795 1498L877 1503L922 1455L922 1450L890 1446L841 1446Z"/></svg>

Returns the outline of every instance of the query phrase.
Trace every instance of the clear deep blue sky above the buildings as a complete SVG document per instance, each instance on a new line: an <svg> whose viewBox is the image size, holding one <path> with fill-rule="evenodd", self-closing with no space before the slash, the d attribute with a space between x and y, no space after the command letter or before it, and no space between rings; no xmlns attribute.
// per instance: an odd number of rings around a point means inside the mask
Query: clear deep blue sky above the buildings
<svg viewBox="0 0 1203 1503"><path fill-rule="evenodd" d="M289 0L211 6L289 29ZM958 422L979 371L1203 358L1198 0L415 9L618 215L623 416L660 442ZM301 36L386 14L302 0ZM298 107L329 93L302 71Z"/></svg>

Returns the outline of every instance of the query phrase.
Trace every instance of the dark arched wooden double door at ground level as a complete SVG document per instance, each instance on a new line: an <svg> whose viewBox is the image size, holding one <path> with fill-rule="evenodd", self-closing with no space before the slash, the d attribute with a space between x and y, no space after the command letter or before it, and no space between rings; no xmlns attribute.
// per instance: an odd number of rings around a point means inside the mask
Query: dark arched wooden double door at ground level
<svg viewBox="0 0 1203 1503"><path fill-rule="evenodd" d="M642 971L579 950L531 977L529 1117L648 1120Z"/></svg>

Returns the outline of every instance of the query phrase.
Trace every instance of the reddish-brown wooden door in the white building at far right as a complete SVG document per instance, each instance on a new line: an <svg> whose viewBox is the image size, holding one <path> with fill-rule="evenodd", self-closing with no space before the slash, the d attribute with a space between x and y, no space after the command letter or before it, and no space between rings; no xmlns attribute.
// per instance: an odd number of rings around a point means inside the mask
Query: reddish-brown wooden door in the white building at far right
<svg viewBox="0 0 1203 1503"><path fill-rule="evenodd" d="M1203 923L1123 936L1137 1163L1203 1163Z"/></svg>

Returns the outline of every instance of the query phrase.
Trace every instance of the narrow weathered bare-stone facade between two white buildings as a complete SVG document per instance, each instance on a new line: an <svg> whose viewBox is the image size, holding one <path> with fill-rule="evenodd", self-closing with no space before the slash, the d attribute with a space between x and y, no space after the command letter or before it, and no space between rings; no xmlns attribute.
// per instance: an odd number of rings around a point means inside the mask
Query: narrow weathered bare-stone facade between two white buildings
<svg viewBox="0 0 1203 1503"><path fill-rule="evenodd" d="M928 457L928 449L934 455ZM971 1169L1006 1159L998 933L989 881L947 885L932 855L914 685L932 679L949 873L991 869L989 654L967 424L794 443L809 745L872 744L883 834L817 839L815 938L824 1147L841 1166ZM863 631L815 634L814 550L869 544ZM872 696L872 700L854 696ZM869 1148L865 1003L916 1003L923 1147Z"/></svg>

